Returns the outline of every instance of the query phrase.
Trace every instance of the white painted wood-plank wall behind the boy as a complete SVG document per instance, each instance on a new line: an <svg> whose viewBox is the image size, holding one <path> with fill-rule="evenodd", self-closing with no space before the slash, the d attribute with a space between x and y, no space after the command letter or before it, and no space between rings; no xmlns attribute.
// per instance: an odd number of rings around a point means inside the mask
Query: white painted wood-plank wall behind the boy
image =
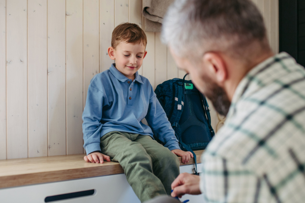
<svg viewBox="0 0 305 203"><path fill-rule="evenodd" d="M278 0L253 1L277 53ZM142 27L141 9L142 0L0 0L0 159L83 153L90 79L113 62L107 48L114 27ZM146 35L139 73L154 87L182 78L160 33ZM215 111L211 116L216 128Z"/></svg>

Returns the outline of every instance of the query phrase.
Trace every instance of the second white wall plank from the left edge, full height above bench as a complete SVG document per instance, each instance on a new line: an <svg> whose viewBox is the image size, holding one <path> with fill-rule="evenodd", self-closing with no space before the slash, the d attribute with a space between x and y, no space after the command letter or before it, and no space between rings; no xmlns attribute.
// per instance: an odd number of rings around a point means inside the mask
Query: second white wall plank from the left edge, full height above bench
<svg viewBox="0 0 305 203"><path fill-rule="evenodd" d="M27 2L22 0L7 1L7 114L8 159L27 157Z"/></svg>

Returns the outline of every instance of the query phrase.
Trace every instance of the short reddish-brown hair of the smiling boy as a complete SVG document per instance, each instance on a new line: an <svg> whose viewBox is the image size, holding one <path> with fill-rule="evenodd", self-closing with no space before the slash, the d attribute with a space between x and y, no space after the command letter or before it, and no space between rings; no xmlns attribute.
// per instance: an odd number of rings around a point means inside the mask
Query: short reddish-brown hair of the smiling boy
<svg viewBox="0 0 305 203"><path fill-rule="evenodd" d="M143 43L146 48L147 38L145 32L134 23L122 23L117 25L112 31L111 47L116 48L119 42Z"/></svg>

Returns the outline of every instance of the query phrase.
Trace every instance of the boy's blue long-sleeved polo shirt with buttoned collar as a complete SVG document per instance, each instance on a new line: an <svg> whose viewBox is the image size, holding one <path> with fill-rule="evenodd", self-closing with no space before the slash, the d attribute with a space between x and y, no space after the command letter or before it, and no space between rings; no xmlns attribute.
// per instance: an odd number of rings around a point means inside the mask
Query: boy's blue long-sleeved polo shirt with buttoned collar
<svg viewBox="0 0 305 203"><path fill-rule="evenodd" d="M90 81L82 114L87 155L101 150L100 138L111 131L157 136L169 150L180 149L175 132L148 79L135 74L132 81L113 63ZM146 118L149 126L141 120Z"/></svg>

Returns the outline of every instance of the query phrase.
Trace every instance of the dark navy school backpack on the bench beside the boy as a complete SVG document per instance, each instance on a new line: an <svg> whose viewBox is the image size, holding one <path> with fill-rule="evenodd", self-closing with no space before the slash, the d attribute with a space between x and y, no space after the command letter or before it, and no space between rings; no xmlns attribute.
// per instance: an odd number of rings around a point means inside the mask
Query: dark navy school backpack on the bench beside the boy
<svg viewBox="0 0 305 203"><path fill-rule="evenodd" d="M206 98L193 85L192 81L174 78L158 85L155 93L171 123L179 147L194 155L193 150L202 150L208 145L215 132L211 126Z"/></svg>

